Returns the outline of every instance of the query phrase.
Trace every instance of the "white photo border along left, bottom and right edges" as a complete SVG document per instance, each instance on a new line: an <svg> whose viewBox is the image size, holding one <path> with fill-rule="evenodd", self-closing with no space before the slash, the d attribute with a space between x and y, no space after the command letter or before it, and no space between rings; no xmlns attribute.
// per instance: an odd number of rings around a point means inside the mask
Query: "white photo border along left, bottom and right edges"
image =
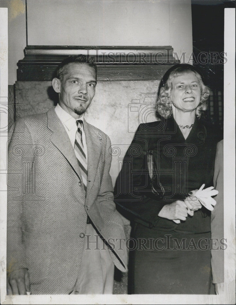
<svg viewBox="0 0 236 305"><path fill-rule="evenodd" d="M7 9L0 8L0 96L1 106L8 95L7 69ZM225 283L235 285L235 10L225 9L225 46L227 63L224 66L224 237ZM0 113L1 127L7 113ZM235 296L213 295L31 295L6 296L6 143L7 134L0 135L1 153L1 304L228 304ZM235 289L235 286L234 286ZM231 297L231 299L230 299Z"/></svg>

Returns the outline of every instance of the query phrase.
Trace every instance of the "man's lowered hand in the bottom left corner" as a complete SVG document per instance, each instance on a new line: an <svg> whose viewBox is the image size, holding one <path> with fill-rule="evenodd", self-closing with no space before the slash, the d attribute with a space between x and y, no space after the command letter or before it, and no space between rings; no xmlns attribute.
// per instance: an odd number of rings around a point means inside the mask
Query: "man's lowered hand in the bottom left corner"
<svg viewBox="0 0 236 305"><path fill-rule="evenodd" d="M7 277L7 294L26 294L30 292L30 277L25 268L15 270Z"/></svg>

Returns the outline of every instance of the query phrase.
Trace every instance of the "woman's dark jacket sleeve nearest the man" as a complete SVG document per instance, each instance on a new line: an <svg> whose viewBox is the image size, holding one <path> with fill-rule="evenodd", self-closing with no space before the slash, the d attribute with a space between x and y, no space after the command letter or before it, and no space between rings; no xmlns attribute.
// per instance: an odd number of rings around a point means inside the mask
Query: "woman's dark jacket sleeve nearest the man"
<svg viewBox="0 0 236 305"><path fill-rule="evenodd" d="M139 125L123 160L123 166L115 185L118 210L128 212L128 217L138 218L150 227L159 221L158 214L166 204L156 200L145 191L147 187L147 151L150 135ZM125 215L127 217L127 214Z"/></svg>

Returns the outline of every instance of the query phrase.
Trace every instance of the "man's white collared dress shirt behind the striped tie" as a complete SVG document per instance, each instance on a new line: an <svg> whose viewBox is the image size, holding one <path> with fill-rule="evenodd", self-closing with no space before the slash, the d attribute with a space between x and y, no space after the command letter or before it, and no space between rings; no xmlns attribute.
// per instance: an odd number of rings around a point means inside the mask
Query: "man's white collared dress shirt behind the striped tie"
<svg viewBox="0 0 236 305"><path fill-rule="evenodd" d="M66 112L62 107L57 104L55 107L55 112L59 119L61 120L63 126L65 127L65 130L67 132L68 137L70 138L70 142L73 146L74 149L74 144L75 144L75 136L77 132L77 124L76 124L76 119L74 119L68 112ZM85 132L84 132L84 114L79 118L79 120L83 121L83 130L82 130L82 141L83 141L83 146L84 146L84 153L86 156L86 159L88 159L87 155L87 145L86 145L86 137L85 137Z"/></svg>

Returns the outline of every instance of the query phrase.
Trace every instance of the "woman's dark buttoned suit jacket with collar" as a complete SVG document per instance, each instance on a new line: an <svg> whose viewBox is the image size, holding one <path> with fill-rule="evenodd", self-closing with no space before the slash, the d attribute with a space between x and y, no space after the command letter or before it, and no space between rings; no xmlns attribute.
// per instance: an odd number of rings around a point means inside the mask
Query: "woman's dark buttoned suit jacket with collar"
<svg viewBox="0 0 236 305"><path fill-rule="evenodd" d="M124 157L116 181L115 202L137 222L163 231L200 233L210 231L210 212L202 207L181 224L159 217L165 204L183 200L188 192L213 185L216 139L201 120L185 140L173 117L140 124ZM153 150L159 181L165 189L157 200L148 191L147 152ZM158 186L157 186L158 188Z"/></svg>

